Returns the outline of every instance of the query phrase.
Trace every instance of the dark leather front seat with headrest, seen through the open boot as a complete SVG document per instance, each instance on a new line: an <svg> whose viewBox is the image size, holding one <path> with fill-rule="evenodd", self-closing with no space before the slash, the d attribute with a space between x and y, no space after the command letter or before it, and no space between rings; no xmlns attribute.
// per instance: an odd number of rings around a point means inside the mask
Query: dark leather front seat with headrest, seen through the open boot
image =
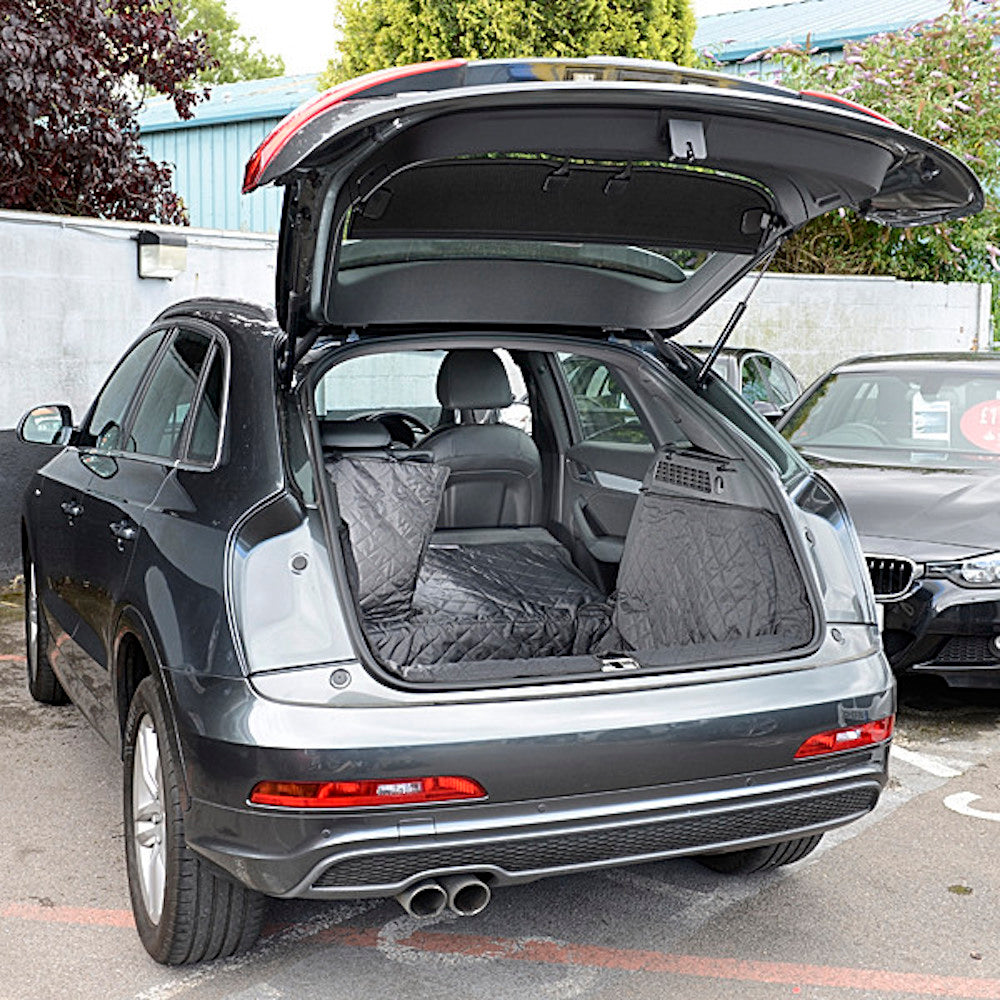
<svg viewBox="0 0 1000 1000"><path fill-rule="evenodd" d="M438 527L538 524L542 463L534 441L516 427L475 422L473 411L502 409L514 401L500 358L476 348L449 351L438 371L437 396L442 426L419 447L451 470Z"/></svg>

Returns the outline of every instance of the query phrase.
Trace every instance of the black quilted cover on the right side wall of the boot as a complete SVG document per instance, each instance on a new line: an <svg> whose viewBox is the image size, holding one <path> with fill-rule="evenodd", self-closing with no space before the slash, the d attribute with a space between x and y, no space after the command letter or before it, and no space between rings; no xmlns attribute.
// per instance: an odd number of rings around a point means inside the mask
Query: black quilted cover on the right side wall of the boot
<svg viewBox="0 0 1000 1000"><path fill-rule="evenodd" d="M643 489L618 573L614 625L632 649L813 631L805 585L769 511Z"/></svg>

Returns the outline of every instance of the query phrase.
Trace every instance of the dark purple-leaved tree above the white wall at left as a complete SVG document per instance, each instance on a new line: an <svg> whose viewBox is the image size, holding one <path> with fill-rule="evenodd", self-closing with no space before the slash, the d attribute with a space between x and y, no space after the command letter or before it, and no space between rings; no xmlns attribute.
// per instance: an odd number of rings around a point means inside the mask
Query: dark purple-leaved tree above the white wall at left
<svg viewBox="0 0 1000 1000"><path fill-rule="evenodd" d="M164 0L0 0L0 207L184 222L136 113L160 93L190 118L212 61Z"/></svg>

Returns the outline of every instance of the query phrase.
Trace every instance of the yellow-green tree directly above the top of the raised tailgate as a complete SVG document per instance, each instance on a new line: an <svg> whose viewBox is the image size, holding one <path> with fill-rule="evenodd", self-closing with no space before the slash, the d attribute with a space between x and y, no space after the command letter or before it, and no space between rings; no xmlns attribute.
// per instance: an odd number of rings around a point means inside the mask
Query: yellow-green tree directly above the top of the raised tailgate
<svg viewBox="0 0 1000 1000"><path fill-rule="evenodd" d="M338 22L323 86L455 56L694 58L689 0L342 0Z"/></svg>

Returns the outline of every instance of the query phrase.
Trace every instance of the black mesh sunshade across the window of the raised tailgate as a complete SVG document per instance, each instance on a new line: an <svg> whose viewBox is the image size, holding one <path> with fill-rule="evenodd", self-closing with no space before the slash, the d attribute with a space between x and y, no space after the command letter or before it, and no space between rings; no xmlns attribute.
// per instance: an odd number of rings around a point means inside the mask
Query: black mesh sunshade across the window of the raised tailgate
<svg viewBox="0 0 1000 1000"><path fill-rule="evenodd" d="M761 185L700 166L494 152L392 172L345 231L361 240L486 235L752 254L774 213Z"/></svg>

